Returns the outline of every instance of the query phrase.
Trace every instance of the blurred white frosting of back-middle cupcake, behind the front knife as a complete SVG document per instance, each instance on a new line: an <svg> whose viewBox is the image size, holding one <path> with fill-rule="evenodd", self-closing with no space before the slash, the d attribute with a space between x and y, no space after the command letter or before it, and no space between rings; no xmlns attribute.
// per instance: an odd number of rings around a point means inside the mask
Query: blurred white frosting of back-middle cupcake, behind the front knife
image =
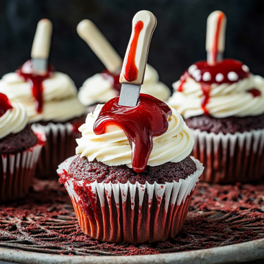
<svg viewBox="0 0 264 264"><path fill-rule="evenodd" d="M149 64L147 64L145 69L141 93L152 95L162 101L166 101L171 94L169 88L158 81L158 72ZM88 78L78 93L78 97L84 106L106 103L116 96L117 92L112 87L112 82L104 78L101 73L97 73Z"/></svg>

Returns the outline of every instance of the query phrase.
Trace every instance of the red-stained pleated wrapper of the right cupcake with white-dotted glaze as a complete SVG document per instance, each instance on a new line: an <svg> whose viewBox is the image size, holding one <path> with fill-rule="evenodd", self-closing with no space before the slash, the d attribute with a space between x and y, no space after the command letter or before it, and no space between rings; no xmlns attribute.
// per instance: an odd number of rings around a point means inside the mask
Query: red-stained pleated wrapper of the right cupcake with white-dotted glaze
<svg viewBox="0 0 264 264"><path fill-rule="evenodd" d="M264 175L264 130L215 134L192 130L193 156L204 164L201 181L235 183L259 180Z"/></svg>

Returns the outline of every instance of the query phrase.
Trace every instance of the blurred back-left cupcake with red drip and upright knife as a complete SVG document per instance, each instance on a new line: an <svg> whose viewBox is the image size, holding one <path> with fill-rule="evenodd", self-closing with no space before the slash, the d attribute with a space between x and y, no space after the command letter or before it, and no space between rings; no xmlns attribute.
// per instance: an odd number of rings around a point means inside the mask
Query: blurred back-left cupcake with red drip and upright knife
<svg viewBox="0 0 264 264"><path fill-rule="evenodd" d="M50 41L51 36L39 34L45 25L51 27L50 21L46 19L38 23L34 43L44 37ZM25 62L15 73L2 77L0 92L8 95L10 101L23 104L29 123L33 128L43 130L47 136L47 144L38 163L38 177L57 177L58 164L75 154L75 138L80 136L77 128L84 122L86 110L77 98L77 88L68 75L54 71L50 64L47 64L45 73L34 69L34 50L36 45L32 48L32 60Z"/></svg>

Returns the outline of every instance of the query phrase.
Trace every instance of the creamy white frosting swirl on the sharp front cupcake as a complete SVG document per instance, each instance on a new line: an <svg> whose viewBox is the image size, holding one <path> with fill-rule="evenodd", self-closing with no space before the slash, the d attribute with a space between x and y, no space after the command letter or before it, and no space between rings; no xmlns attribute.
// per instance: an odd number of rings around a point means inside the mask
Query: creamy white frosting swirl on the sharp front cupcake
<svg viewBox="0 0 264 264"><path fill-rule="evenodd" d="M117 125L110 125L105 134L96 135L93 125L103 105L98 105L88 114L86 123L80 128L82 138L76 139L76 154L86 156L89 161L95 158L110 166L127 165L132 168L132 150L125 132ZM194 138L182 117L175 109L169 118L169 128L161 136L153 137L153 149L147 165L158 166L169 161L178 163L193 149Z"/></svg>

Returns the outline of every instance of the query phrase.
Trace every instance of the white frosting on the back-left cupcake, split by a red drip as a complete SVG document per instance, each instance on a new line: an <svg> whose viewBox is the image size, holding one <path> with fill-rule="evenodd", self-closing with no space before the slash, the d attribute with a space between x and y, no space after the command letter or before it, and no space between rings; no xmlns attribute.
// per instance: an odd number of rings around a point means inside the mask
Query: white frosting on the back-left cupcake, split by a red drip
<svg viewBox="0 0 264 264"><path fill-rule="evenodd" d="M8 96L10 101L19 101L25 106L29 122L58 121L63 122L80 117L85 112L84 106L77 99L77 88L71 78L56 72L43 82L43 112L38 113L32 88L17 73L8 73L0 80L0 93Z"/></svg>

